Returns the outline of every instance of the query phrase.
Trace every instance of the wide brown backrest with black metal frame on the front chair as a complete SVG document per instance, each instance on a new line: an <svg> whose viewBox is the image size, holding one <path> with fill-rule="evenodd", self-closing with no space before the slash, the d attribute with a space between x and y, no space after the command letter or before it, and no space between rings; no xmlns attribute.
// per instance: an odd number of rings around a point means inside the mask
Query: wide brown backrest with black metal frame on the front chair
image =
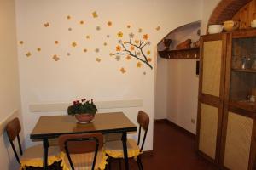
<svg viewBox="0 0 256 170"><path fill-rule="evenodd" d="M74 170L73 161L70 154L83 154L95 152L91 169L96 165L96 156L98 150L103 146L102 133L80 133L80 134L63 134L59 137L61 151L66 152L70 167Z"/></svg>

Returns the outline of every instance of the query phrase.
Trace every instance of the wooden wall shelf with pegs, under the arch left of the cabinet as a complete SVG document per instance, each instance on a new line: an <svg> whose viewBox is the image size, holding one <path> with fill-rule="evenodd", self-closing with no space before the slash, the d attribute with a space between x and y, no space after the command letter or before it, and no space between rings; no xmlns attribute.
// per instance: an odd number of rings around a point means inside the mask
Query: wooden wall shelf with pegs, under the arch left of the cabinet
<svg viewBox="0 0 256 170"><path fill-rule="evenodd" d="M161 58L165 59L199 59L200 48L174 49L159 51Z"/></svg>

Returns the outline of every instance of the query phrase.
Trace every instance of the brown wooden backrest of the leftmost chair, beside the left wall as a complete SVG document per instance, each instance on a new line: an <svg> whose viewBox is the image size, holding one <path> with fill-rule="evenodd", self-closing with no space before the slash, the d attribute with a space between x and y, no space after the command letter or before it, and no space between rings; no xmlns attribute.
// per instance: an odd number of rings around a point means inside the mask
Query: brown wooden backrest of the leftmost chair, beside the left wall
<svg viewBox="0 0 256 170"><path fill-rule="evenodd" d="M5 127L9 142L12 146L12 149L15 152L15 158L16 160L20 163L20 158L17 154L17 151L15 149L15 144L14 144L14 140L18 139L18 144L19 144L19 149L20 149L20 155L22 155L22 148L21 148L21 144L20 144L20 136L19 133L21 131L21 126L20 126L20 121L17 117L15 117L13 120L11 120Z"/></svg>

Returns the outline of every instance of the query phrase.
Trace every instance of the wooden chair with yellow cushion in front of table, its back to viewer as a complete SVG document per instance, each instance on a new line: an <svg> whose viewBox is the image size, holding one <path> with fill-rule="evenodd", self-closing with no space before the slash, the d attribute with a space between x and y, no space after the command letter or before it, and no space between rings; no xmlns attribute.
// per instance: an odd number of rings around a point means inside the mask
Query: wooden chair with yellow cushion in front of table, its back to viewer
<svg viewBox="0 0 256 170"><path fill-rule="evenodd" d="M63 134L59 137L63 169L105 169L102 133Z"/></svg>

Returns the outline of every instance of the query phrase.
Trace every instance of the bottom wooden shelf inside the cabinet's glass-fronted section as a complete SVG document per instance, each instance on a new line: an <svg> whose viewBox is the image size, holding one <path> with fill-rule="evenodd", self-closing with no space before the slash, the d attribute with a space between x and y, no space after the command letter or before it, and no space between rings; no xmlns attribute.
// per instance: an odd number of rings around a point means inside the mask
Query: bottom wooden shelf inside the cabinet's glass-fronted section
<svg viewBox="0 0 256 170"><path fill-rule="evenodd" d="M256 111L256 102L251 102L249 100L230 101L229 105L245 111Z"/></svg>

